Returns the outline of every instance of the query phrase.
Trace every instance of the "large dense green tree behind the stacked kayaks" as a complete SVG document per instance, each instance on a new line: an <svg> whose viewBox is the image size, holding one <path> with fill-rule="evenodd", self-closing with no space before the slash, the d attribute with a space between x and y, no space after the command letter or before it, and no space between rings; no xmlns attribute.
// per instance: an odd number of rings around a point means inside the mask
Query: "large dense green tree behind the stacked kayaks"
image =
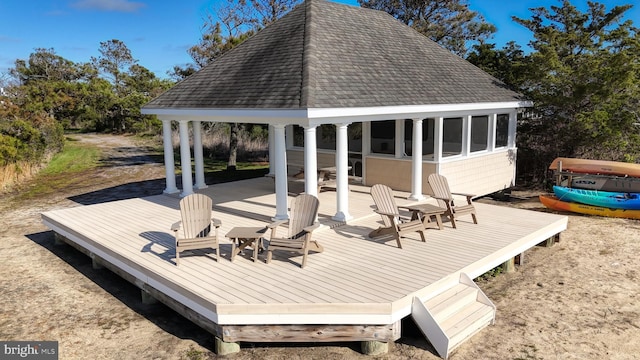
<svg viewBox="0 0 640 360"><path fill-rule="evenodd" d="M622 21L630 7L589 2L582 13L564 0L513 18L534 38L519 80L535 104L519 122L519 169L544 174L557 156L638 161L640 38Z"/></svg>

